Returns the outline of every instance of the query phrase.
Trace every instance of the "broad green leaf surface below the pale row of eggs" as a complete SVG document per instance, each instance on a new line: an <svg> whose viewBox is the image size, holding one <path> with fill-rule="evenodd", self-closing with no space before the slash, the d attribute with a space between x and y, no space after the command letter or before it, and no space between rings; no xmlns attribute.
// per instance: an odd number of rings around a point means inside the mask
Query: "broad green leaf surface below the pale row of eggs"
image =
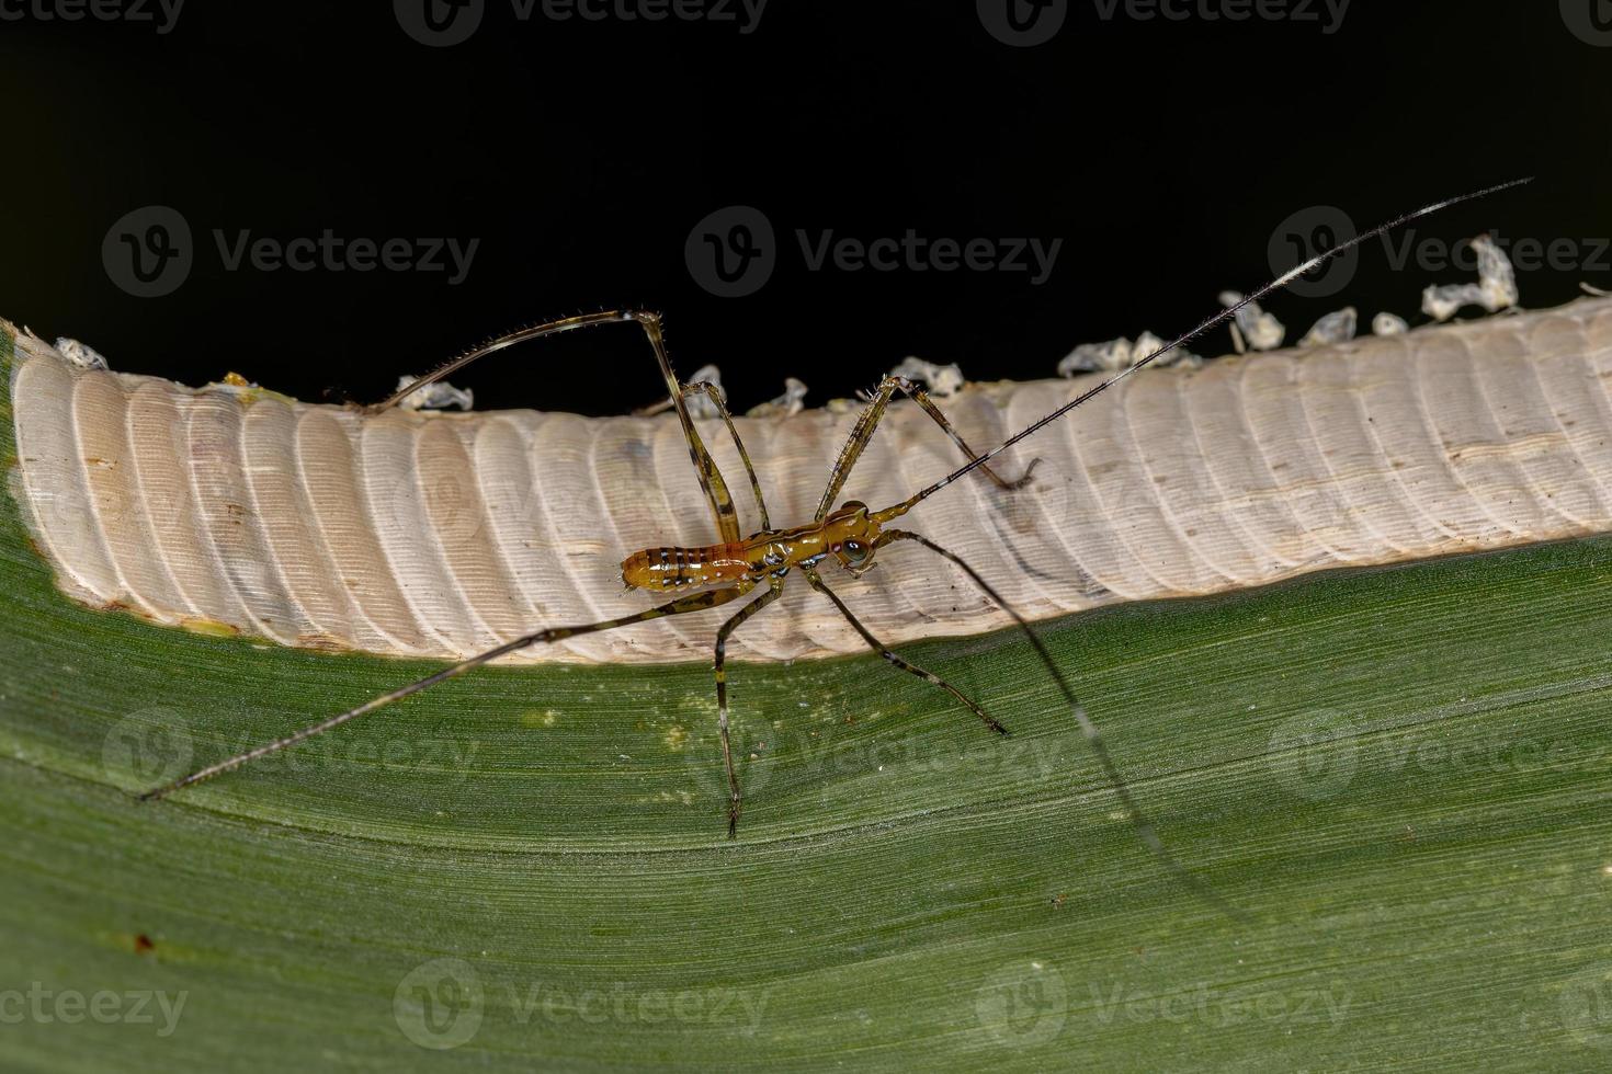
<svg viewBox="0 0 1612 1074"><path fill-rule="evenodd" d="M1045 626L1238 924L1012 634L911 649L1009 741L877 659L733 668L737 842L704 667L493 668L140 805L435 665L74 605L0 501L6 1069L1612 1056L1607 539Z"/></svg>

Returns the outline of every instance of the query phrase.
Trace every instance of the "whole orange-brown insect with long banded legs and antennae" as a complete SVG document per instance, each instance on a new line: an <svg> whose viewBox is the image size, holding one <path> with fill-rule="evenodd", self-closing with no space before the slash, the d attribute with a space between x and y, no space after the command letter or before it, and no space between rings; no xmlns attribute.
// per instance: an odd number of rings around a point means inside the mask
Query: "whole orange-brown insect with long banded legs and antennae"
<svg viewBox="0 0 1612 1074"><path fill-rule="evenodd" d="M829 477L829 483L824 488L822 496L817 501L817 509L814 517L801 525L790 528L774 528L767 515L766 499L761 491L761 481L756 477L754 465L750 461L750 454L740 440L738 430L733 425L732 415L729 414L725 403L717 390L709 383L692 383L683 385L677 380L672 370L671 357L667 354L664 332L661 319L658 314L625 309L625 311L604 311L580 314L575 317L566 317L561 320L551 320L546 324L538 324L519 332L503 335L484 346L472 349L471 353L442 366L432 374L421 377L405 386L401 386L390 398L366 407L371 414L384 412L414 391L432 385L443 377L479 361L488 354L501 351L505 348L524 343L529 340L537 340L542 337L558 335L563 332L571 332L575 328L606 325L606 324L634 324L643 333L651 349L654 351L656 361L661 369L661 375L666 382L669 393L671 407L677 415L683 438L688 446L688 456L693 462L695 473L700 480L700 488L703 491L704 501L709 506L711 517L716 523L716 531L719 536L717 543L698 547L650 547L634 552L621 564L621 578L629 589L643 589L648 593L664 594L672 597L671 601L656 604L642 612L621 615L616 618L606 618L593 623L584 623L575 626L551 626L543 628L505 644L495 646L484 652L479 652L466 660L459 660L440 671L429 675L422 680L401 686L388 694L374 697L355 708L334 715L324 721L306 726L285 737L264 742L251 750L237 754L222 762L210 765L206 768L197 770L187 776L182 776L169 784L155 787L140 795L142 800L160 799L182 787L202 783L203 779L211 779L213 776L222 775L234 768L239 768L251 760L266 757L277 750L305 742L318 734L330 731L350 720L371 713L384 705L395 700L424 691L437 683L450 678L464 675L490 660L503 657L511 652L517 652L532 646L551 644L566 638L574 638L579 634L598 633L617 630L622 626L630 626L634 623L645 623L650 620L675 615L690 615L695 612L704 612L709 609L729 605L733 602L742 602L737 610L733 610L725 622L716 631L716 641L713 649L713 670L716 676L716 697L717 697L717 731L722 747L722 763L727 775L729 802L727 802L727 832L729 837L735 837L738 831L740 810L743 803L738 778L733 768L732 744L729 739L729 705L727 705L727 671L725 671L725 654L729 638L737 631L746 620L753 615L762 612L769 604L777 601L785 589L787 580L800 573L806 583L832 602L835 610L851 625L851 628L866 641L866 644L890 662L895 668L916 675L940 689L949 692L962 707L974 713L988 731L995 734L1008 734L1008 729L996 721L990 713L985 712L975 700L962 694L959 689L941 680L940 676L911 663L888 646L885 646L879 638L869 631L856 613L846 605L846 602L827 585L824 573L827 567L837 567L853 576L870 570L875 565L879 554L898 543L911 543L929 549L935 556L946 559L954 567L958 567L990 601L1001 607L1016 623L1016 626L1024 633L1032 649L1035 651L1038 660L1046 668L1049 678L1057 686L1057 691L1066 699L1070 715L1078 725L1085 741L1088 742L1093 755L1096 757L1099 768L1109 786L1119 797L1125 813L1130 818L1132 826L1149 847L1153 855L1177 878L1185 884L1203 894L1206 898L1222 905L1220 900L1209 892L1191 873L1188 873L1164 847L1162 841L1153 823L1148 820L1146 813L1141 810L1140 803L1132 795L1128 786L1120 778L1117 766L1114 765L1109 752L1099 736L1096 726L1088 717L1085 707L1077 699L1074 689L1070 688L1062 668L1053 660L1051 654L1046 651L1041 639L1037 636L1030 623L1014 612L1012 607L1001 597L1001 594L983 578L967 560L964 560L956 552L940 546L930 538L903 530L896 523L903 515L911 512L917 504L929 499L930 496L940 493L954 481L980 470L987 478L995 481L1004 489L1020 488L1028 478L1035 467L1032 462L1024 473L1014 480L1008 480L991 470L988 465L991 459L998 457L1014 444L1020 443L1027 436L1032 436L1046 425L1059 420L1075 407L1085 404L1093 396L1111 388L1120 380L1130 377L1136 370L1146 367L1162 354L1188 343L1190 340L1203 335L1209 328L1225 322L1227 319L1236 316L1244 306L1259 301L1265 295L1291 283L1299 275L1315 269L1330 258L1369 240L1383 232L1394 229L1407 221L1427 216L1449 204L1459 201L1469 201L1498 190L1504 190L1519 184L1528 182L1527 179L1519 179L1473 193L1467 193L1457 198L1449 198L1438 201L1412 213L1407 213L1394 221L1381 224L1370 229L1354 238L1327 250L1301 266L1290 269L1280 277L1270 280L1264 287L1246 295L1235 304L1230 304L1215 314L1206 317L1188 333L1175 338L1174 341L1154 349L1151 354L1138 359L1132 366L1116 372L1106 380L1099 382L1093 388L1080 393L1078 396L1069 399L1062 406L1053 409L1045 417L1032 422L1025 428L1008 436L1003 443L985 452L975 452L958 430L951 425L946 415L938 406L912 382L903 377L885 377L879 388L872 393L867 407L862 411L856 425L851 430L850 438L841 448L838 459ZM879 422L883 419L885 411L895 393L901 391L909 396L922 411L927 414L946 436L956 444L956 448L967 459L961 467L949 472L946 477L933 481L932 485L912 493L906 499L895 502L888 507L872 509L861 501L845 501L835 507L835 501L845 486L846 478L854 470L858 461L861 459L864 449L874 436ZM745 467L751 493L756 501L756 509L759 512L761 530L745 536L738 527L738 514L733 506L733 496L729 489L729 483L719 470L716 461L713 459L709 449L700 436L698 428L690 415L688 399L695 396L704 396L706 403L716 409L717 415L724 422L727 433L732 436L733 444L738 451L738 457Z"/></svg>

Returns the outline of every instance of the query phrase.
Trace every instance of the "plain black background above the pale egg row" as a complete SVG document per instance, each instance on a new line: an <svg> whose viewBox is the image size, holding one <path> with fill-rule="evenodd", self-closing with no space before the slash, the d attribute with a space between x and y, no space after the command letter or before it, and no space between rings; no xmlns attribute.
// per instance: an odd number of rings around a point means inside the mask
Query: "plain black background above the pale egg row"
<svg viewBox="0 0 1612 1074"><path fill-rule="evenodd" d="M1575 2L1586 21L1604 0L1356 0L1333 32L1320 3L1307 21L1227 21L1194 0L1174 21L1072 0L1037 47L999 42L974 3L916 0L772 0L750 32L737 5L737 23L542 6L521 21L487 0L453 47L416 42L387 3L190 0L160 34L35 10L64 2L0 3L0 316L187 383L239 370L300 398L372 399L482 337L627 304L664 311L679 369L717 362L740 407L785 375L819 403L850 394L904 354L1045 377L1075 343L1174 333L1219 290L1262 282L1273 230L1306 206L1364 227L1522 174L1539 179L1417 235L1572 240L1580 264L1520 274L1528 306L1578 280L1612 287L1594 242L1612 235L1612 32L1596 45L1568 27ZM193 230L193 267L161 298L119 290L102 254L147 204ZM777 271L743 298L703 290L683 254L730 204L777 230ZM213 229L480 243L450 285L226 271ZM1041 285L814 272L796 229L1062 248ZM1367 246L1336 296L1270 306L1294 338L1343 303L1417 320L1423 285L1467 279ZM613 414L656 396L630 328L527 345L456 382L484 409Z"/></svg>

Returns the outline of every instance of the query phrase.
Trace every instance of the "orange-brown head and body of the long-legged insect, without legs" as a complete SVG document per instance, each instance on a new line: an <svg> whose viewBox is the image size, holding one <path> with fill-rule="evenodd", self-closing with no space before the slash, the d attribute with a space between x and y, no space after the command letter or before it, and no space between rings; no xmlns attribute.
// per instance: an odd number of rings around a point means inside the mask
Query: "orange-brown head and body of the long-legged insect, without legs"
<svg viewBox="0 0 1612 1074"><path fill-rule="evenodd" d="M767 575L785 575L793 567L812 567L833 556L851 572L872 565L879 538L879 518L869 515L867 504L846 501L822 522L791 530L762 530L732 544L701 547L646 547L621 564L621 580L629 589L672 589L685 586L733 585L761 581Z"/></svg>

